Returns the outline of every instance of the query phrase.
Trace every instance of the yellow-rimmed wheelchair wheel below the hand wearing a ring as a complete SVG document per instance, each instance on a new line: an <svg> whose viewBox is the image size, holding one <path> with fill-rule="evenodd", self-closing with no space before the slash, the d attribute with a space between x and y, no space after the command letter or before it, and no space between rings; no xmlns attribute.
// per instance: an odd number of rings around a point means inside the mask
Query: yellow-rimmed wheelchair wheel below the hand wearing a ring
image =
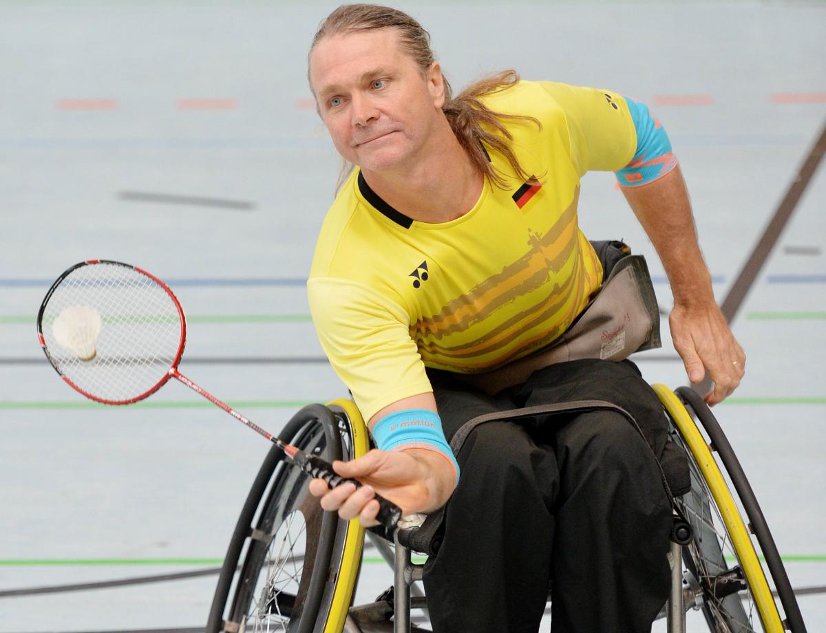
<svg viewBox="0 0 826 633"><path fill-rule="evenodd" d="M676 498L694 531L694 540L683 547L691 594L686 607L702 609L710 631L785 631L766 574L709 445L676 395L663 385L653 389L669 413L672 439L686 451L691 472L691 491ZM776 550L764 554L776 556L773 562L782 567ZM805 628L793 629L798 630Z"/></svg>

